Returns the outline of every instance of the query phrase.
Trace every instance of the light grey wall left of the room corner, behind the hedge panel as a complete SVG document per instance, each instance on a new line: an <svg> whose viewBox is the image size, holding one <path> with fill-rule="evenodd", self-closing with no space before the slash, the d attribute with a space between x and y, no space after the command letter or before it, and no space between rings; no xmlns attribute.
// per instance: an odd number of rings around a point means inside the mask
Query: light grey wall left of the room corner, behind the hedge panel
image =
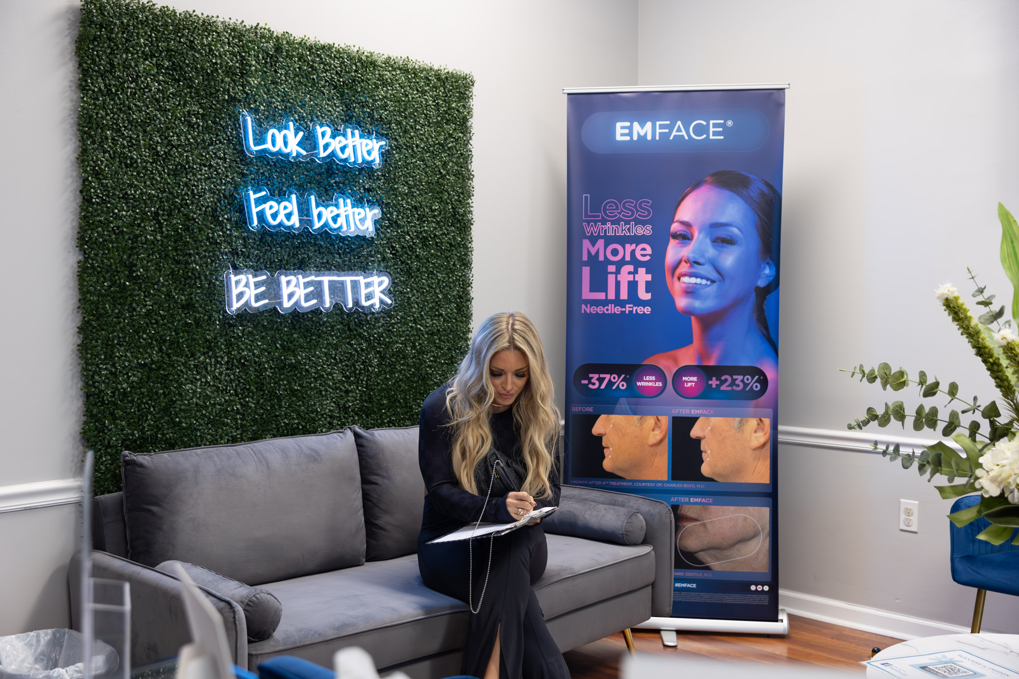
<svg viewBox="0 0 1019 679"><path fill-rule="evenodd" d="M167 4L472 72L475 324L496 311L524 311L542 332L553 374L561 375L560 90L633 82L636 0ZM72 59L77 7L74 0L0 2L0 101L8 104L0 107L0 124L30 133L9 137L0 156L4 193L16 199L0 219L8 247L18 253L0 268L0 285L19 292L8 296L5 310L8 327L17 331L0 332L0 512L5 487L17 491L17 484L74 476L81 454ZM384 19L374 34L347 20L366 12ZM0 544L22 550L0 551L0 635L67 624L62 582L72 551L72 510L0 513Z"/></svg>

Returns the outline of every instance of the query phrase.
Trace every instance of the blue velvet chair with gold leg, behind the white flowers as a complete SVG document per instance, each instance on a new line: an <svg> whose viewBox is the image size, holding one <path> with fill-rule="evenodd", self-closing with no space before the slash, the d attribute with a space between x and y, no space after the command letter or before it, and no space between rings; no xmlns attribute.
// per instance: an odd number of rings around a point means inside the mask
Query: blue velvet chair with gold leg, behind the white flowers
<svg viewBox="0 0 1019 679"><path fill-rule="evenodd" d="M980 502L980 495L964 495L952 505L952 512L968 509ZM983 600L987 590L1019 596L1019 546L1010 542L991 544L976 539L976 535L990 523L977 519L959 528L949 523L952 536L952 579L959 584L976 587L976 605L973 607L973 626L970 631L980 631L983 619Z"/></svg>

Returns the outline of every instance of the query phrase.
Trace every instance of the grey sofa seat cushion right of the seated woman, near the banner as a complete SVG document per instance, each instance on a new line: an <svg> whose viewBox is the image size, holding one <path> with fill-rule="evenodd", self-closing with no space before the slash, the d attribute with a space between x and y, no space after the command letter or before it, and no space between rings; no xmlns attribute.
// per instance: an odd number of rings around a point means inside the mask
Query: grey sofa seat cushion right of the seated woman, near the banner
<svg viewBox="0 0 1019 679"><path fill-rule="evenodd" d="M545 620L654 581L654 551L649 544L609 544L569 535L545 538L548 565L534 585Z"/></svg>

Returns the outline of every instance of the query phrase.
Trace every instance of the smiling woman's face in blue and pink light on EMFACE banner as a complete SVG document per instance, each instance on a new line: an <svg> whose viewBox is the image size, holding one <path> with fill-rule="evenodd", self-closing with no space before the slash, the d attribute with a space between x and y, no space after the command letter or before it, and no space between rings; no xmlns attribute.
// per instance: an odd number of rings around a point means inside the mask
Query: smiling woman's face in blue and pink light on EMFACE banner
<svg viewBox="0 0 1019 679"><path fill-rule="evenodd" d="M665 250L665 279L677 310L688 316L725 311L752 297L763 275L750 206L710 185L687 196L673 216Z"/></svg>

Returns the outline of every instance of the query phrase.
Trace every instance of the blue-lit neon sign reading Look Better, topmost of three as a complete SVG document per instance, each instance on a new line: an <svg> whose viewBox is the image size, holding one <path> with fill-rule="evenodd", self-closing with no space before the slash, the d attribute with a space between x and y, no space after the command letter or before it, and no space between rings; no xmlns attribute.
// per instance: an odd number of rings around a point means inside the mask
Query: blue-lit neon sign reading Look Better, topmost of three
<svg viewBox="0 0 1019 679"><path fill-rule="evenodd" d="M385 138L372 133L364 136L358 125L339 128L325 122L313 122L311 129L287 118L282 125L259 127L247 111L240 113L240 140L249 156L269 156L293 161L333 160L351 167L380 167Z"/></svg>

